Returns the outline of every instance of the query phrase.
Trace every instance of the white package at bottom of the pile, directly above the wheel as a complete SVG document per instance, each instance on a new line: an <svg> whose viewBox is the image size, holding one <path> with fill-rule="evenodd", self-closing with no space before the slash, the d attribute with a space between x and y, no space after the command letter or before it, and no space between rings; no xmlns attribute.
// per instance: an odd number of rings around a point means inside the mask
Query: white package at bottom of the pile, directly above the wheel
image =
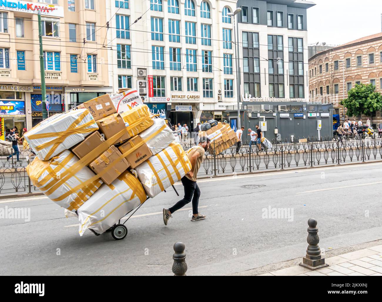
<svg viewBox="0 0 382 302"><path fill-rule="evenodd" d="M123 172L111 185L104 183L78 209L79 235L87 228L103 233L144 201L146 193L139 180L130 172Z"/></svg>

